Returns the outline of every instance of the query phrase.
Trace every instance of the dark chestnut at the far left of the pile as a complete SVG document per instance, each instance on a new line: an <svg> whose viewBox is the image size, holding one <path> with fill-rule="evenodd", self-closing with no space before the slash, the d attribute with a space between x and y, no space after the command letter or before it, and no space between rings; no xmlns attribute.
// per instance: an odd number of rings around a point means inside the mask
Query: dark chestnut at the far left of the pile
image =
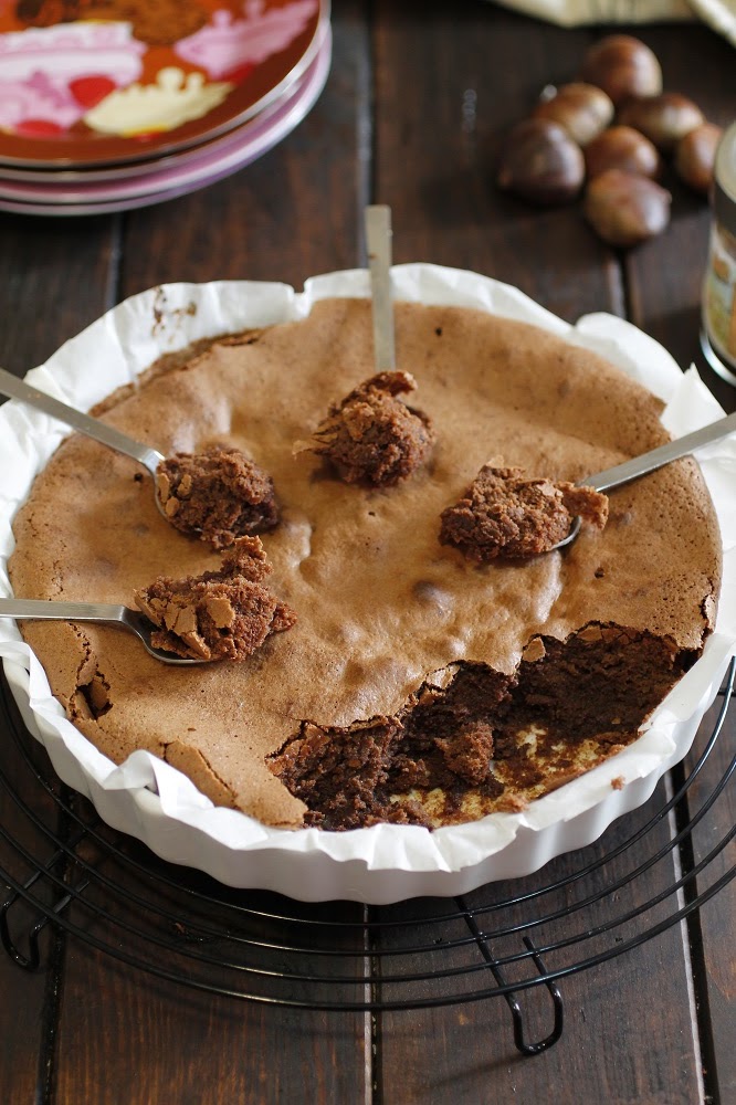
<svg viewBox="0 0 736 1105"><path fill-rule="evenodd" d="M508 134L496 182L533 203L551 206L577 196L585 173L582 150L567 130L548 119L530 118Z"/></svg>

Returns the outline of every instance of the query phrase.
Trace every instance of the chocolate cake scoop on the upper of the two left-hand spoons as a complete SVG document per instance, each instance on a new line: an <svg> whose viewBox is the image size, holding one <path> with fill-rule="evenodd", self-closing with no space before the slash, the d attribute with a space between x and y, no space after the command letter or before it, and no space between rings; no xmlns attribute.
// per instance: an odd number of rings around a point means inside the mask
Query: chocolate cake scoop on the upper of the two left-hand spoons
<svg viewBox="0 0 736 1105"><path fill-rule="evenodd" d="M217 549L278 523L273 480L238 449L175 453L158 465L156 490L172 526Z"/></svg>

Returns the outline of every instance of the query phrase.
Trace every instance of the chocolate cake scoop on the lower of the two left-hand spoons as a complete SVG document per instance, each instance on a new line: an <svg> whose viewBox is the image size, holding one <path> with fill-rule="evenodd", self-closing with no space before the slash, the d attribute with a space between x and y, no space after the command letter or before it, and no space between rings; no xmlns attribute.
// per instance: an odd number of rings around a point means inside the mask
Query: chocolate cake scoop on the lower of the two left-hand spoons
<svg viewBox="0 0 736 1105"><path fill-rule="evenodd" d="M218 571L155 579L134 596L158 627L151 643L193 660L245 660L272 633L296 621L294 611L264 586L270 571L260 539L241 537Z"/></svg>

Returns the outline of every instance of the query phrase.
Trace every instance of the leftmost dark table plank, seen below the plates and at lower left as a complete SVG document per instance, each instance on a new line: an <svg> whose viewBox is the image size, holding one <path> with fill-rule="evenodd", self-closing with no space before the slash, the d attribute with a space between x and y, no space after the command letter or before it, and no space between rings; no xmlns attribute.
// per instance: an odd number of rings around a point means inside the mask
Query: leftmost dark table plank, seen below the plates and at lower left
<svg viewBox="0 0 736 1105"><path fill-rule="evenodd" d="M63 341L83 329L108 306L111 257L115 253L115 221L105 219L35 219L0 214L0 333L2 364L22 376L46 359ZM0 736L3 770L9 786L24 796L54 831L56 811L17 755L9 735ZM0 824L40 862L53 854L48 839L31 827L18 804L0 793ZM31 867L7 844L4 862L20 882ZM49 895L39 890L43 897ZM51 892L49 892L51 893ZM0 884L0 896L6 899ZM28 949L27 932L38 917L22 905L9 913L13 936ZM59 966L52 962L55 944L42 940L44 966L27 974L0 950L0 991L3 993L0 1029L0 1099L25 1105L43 1099L51 1072L50 1040L55 1028L55 991ZM39 1095L36 1097L36 1095Z"/></svg>

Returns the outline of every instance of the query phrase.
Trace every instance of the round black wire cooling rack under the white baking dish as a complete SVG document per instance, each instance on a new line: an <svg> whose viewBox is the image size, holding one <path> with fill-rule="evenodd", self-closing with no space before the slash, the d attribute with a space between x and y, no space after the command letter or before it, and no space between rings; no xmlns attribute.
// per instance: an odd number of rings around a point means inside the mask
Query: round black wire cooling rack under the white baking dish
<svg viewBox="0 0 736 1105"><path fill-rule="evenodd" d="M687 766L596 845L465 897L381 907L232 890L158 860L59 782L3 680L0 723L14 749L0 760L0 941L19 967L40 970L56 930L182 986L292 1008L404 1010L503 997L517 1049L536 1054L561 1035L561 980L680 922L692 938L697 911L736 874L736 829L718 806L736 757L724 770L725 757L713 755L735 672L736 661ZM713 832L719 822L723 834ZM708 830L702 853L698 825ZM519 996L539 986L551 1031L530 1042Z"/></svg>

